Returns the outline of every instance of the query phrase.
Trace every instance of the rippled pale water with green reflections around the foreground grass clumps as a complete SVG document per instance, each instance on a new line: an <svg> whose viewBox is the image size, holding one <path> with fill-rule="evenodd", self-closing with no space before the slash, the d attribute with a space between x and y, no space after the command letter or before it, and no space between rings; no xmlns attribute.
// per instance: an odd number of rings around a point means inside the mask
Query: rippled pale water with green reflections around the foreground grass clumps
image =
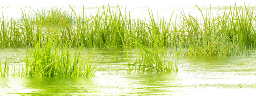
<svg viewBox="0 0 256 96"><path fill-rule="evenodd" d="M253 95L256 90L256 56L174 56L178 72L127 72L117 49L97 49L93 77L1 77L0 95ZM86 50L88 53L91 49ZM0 49L10 62L22 64L26 49ZM171 56L172 58L172 56Z"/></svg>

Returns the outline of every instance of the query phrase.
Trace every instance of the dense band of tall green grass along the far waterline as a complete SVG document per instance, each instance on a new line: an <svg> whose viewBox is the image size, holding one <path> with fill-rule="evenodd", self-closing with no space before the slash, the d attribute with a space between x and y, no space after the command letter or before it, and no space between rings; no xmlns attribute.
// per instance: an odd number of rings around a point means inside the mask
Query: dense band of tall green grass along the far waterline
<svg viewBox="0 0 256 96"><path fill-rule="evenodd" d="M255 48L256 44L256 15L254 9L246 6L242 10L230 6L221 15L211 10L202 12L202 21L184 13L165 20L154 17L150 10L150 18L135 19L119 7L107 7L90 15L83 13L76 13L72 8L70 11L51 8L34 14L22 11L22 19L3 16L0 47L33 47L35 40L41 39L44 44L46 37L53 35L58 44L71 41L72 47L117 48L140 41L150 48L159 46L171 49L172 54L185 55L247 54L248 48ZM177 18L180 20L171 22Z"/></svg>

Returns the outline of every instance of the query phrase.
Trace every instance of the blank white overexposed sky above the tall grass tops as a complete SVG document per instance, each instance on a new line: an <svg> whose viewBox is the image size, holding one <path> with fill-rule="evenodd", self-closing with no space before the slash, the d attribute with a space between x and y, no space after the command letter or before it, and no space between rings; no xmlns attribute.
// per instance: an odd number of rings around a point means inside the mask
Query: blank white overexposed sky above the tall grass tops
<svg viewBox="0 0 256 96"><path fill-rule="evenodd" d="M243 6L255 6L255 0L4 0L0 3L0 15L2 12L5 16L16 17L21 14L21 8L23 10L36 10L42 8L50 8L50 6L63 7L69 9L69 5L78 12L82 11L82 6L86 8L86 12L95 12L98 8L102 8L102 5L110 5L113 8L119 4L121 9L126 8L130 10L132 15L144 16L142 13L148 13L148 8L153 12L159 12L159 15L171 15L172 11L183 9L186 13L197 15L195 11L198 5L200 8L223 8L229 5ZM180 11L178 11L180 12Z"/></svg>

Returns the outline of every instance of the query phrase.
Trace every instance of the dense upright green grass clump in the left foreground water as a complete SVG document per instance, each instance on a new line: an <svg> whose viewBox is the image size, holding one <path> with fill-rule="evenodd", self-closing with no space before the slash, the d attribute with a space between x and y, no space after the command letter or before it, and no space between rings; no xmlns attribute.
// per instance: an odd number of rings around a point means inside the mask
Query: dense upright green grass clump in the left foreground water
<svg viewBox="0 0 256 96"><path fill-rule="evenodd" d="M50 41L48 41L50 42ZM33 52L31 52L33 51ZM92 54L86 57L82 48L71 52L70 46L56 46L47 43L36 44L34 50L26 55L26 71L28 76L93 76Z"/></svg>

